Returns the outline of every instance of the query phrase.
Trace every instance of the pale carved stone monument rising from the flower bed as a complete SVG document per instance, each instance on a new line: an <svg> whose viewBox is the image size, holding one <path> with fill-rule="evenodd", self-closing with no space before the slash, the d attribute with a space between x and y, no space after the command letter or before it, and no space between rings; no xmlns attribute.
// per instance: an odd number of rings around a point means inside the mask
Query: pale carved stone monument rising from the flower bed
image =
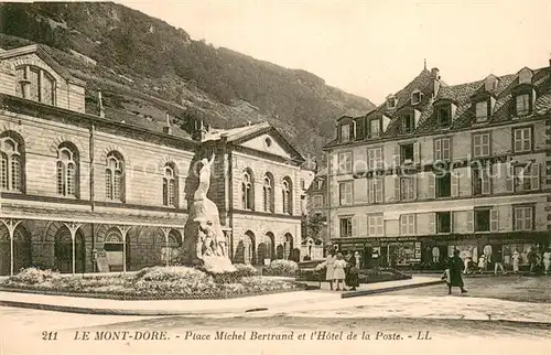
<svg viewBox="0 0 551 355"><path fill-rule="evenodd" d="M207 197L210 187L210 160L201 161L199 184L193 195L190 215L184 229L184 263L203 266L215 273L235 271L226 254L226 236L222 230L216 204Z"/></svg>

